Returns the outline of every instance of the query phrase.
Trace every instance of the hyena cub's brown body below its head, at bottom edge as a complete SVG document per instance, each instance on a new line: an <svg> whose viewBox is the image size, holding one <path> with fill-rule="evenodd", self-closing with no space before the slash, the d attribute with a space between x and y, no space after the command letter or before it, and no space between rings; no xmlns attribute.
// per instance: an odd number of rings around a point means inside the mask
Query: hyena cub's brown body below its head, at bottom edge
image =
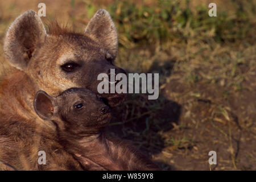
<svg viewBox="0 0 256 182"><path fill-rule="evenodd" d="M87 170L157 170L151 160L135 148L105 134L90 140L76 142L73 155Z"/></svg>

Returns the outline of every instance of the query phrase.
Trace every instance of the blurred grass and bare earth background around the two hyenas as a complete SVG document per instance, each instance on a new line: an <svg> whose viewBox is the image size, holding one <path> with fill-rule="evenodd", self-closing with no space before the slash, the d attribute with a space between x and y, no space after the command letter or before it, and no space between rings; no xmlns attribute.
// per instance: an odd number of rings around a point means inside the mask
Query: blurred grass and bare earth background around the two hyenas
<svg viewBox="0 0 256 182"><path fill-rule="evenodd" d="M129 94L108 134L134 144L164 170L256 170L256 2L245 0L0 1L0 80L10 66L3 38L24 11L77 31L98 9L119 34L115 64L159 73L160 96ZM208 5L217 5L217 17ZM47 27L47 26L46 26ZM217 165L208 163L217 152Z"/></svg>

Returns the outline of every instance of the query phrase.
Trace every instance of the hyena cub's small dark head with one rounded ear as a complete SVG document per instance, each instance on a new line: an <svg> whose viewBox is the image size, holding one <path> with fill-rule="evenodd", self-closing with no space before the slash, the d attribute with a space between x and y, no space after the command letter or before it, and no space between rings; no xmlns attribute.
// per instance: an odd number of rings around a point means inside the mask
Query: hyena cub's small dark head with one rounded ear
<svg viewBox="0 0 256 182"><path fill-rule="evenodd" d="M109 106L84 88L70 88L57 97L39 90L34 98L34 109L40 118L57 125L61 137L67 133L76 138L98 134L111 119Z"/></svg>

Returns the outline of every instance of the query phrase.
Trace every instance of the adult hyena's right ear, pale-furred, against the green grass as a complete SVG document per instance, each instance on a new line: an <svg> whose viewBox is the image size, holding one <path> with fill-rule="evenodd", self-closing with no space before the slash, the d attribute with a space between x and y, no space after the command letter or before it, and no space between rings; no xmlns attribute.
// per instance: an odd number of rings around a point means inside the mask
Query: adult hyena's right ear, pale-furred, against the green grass
<svg viewBox="0 0 256 182"><path fill-rule="evenodd" d="M90 34L115 59L118 49L117 30L108 11L98 10L93 18L90 19L85 32Z"/></svg>

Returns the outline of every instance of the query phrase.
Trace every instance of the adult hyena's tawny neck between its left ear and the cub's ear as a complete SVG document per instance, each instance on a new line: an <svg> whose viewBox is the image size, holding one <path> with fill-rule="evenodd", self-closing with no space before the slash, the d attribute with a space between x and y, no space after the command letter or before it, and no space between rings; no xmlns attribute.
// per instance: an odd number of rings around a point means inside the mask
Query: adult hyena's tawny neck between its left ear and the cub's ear
<svg viewBox="0 0 256 182"><path fill-rule="evenodd" d="M23 71L16 70L3 78L0 86L0 112L6 117L18 118L20 122L29 121L42 124L34 110L34 97L39 90L30 77ZM1 115L2 115L1 114ZM47 125L51 125L47 123ZM53 127L53 126L51 126Z"/></svg>

